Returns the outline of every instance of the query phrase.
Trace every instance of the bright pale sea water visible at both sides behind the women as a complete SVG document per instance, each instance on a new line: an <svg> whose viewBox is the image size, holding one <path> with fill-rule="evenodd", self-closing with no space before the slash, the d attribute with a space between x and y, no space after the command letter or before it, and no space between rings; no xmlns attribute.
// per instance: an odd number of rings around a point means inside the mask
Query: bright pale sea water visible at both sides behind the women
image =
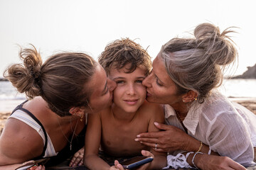
<svg viewBox="0 0 256 170"><path fill-rule="evenodd" d="M223 79L219 91L228 98L256 99L256 79ZM12 111L19 103L26 100L9 81L0 81L0 113Z"/></svg>

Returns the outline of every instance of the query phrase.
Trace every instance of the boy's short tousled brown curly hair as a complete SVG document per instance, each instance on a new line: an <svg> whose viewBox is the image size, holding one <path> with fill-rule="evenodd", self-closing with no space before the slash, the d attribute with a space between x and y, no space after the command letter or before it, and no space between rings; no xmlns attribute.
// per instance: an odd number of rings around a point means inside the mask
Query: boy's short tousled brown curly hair
<svg viewBox="0 0 256 170"><path fill-rule="evenodd" d="M107 74L110 74L112 67L122 69L126 64L131 64L127 68L127 73L134 72L137 67L144 67L146 69L145 74L148 75L152 67L151 57L146 50L129 38L110 42L101 53L98 61Z"/></svg>

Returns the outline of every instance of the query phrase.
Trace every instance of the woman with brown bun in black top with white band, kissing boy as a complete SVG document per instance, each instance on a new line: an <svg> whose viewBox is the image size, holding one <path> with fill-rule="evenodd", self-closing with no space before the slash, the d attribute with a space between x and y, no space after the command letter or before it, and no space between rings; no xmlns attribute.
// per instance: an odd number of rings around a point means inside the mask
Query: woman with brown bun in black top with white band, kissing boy
<svg viewBox="0 0 256 170"><path fill-rule="evenodd" d="M110 106L116 84L84 53L62 52L43 63L32 47L21 50L20 58L23 64L11 65L4 77L28 101L6 121L0 137L0 169L15 169L44 157L52 158L46 163L50 166L73 154L70 166L82 164L85 113Z"/></svg>

